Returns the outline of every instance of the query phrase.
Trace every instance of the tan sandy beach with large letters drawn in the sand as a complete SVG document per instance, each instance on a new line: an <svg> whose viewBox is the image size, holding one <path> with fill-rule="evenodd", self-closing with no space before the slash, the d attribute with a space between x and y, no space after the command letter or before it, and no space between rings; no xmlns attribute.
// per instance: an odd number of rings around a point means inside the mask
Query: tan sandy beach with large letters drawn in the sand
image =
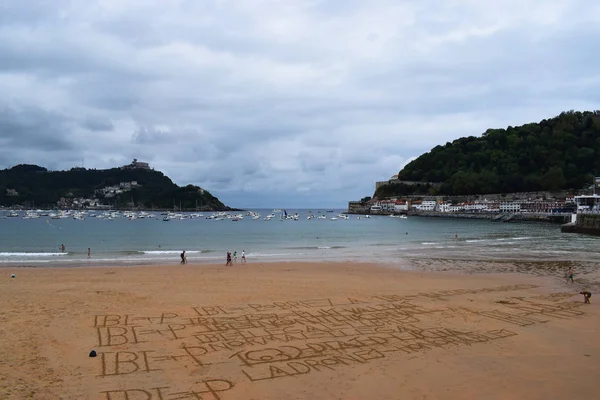
<svg viewBox="0 0 600 400"><path fill-rule="evenodd" d="M354 263L0 272L1 399L598 391L600 295L584 304L557 277Z"/></svg>

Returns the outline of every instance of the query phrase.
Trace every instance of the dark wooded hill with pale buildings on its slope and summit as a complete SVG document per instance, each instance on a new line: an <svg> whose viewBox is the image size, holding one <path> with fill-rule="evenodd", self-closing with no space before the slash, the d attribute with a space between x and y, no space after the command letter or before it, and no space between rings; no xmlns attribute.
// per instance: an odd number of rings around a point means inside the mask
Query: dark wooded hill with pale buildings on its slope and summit
<svg viewBox="0 0 600 400"><path fill-rule="evenodd" d="M96 199L114 208L230 210L208 191L192 185L179 187L152 169L48 171L21 164L0 170L0 205L53 208L59 202L68 206L81 198ZM89 203L86 206L92 207Z"/></svg>

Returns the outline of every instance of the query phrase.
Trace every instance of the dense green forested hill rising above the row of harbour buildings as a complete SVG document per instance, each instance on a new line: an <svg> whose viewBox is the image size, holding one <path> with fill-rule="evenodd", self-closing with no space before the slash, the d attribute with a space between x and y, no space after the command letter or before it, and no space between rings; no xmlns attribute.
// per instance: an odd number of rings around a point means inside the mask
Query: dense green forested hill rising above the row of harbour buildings
<svg viewBox="0 0 600 400"><path fill-rule="evenodd" d="M600 111L569 111L436 146L406 165L398 179L439 185L385 185L375 195L577 190L589 187L594 176L600 176Z"/></svg>

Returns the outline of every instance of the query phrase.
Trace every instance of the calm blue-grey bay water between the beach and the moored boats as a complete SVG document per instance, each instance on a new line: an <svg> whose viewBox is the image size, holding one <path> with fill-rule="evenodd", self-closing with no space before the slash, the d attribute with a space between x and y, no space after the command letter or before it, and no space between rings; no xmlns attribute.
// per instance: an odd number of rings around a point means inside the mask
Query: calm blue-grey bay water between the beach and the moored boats
<svg viewBox="0 0 600 400"><path fill-rule="evenodd" d="M337 217L343 210L312 214L295 220L264 217L272 210L254 210L260 219L239 221L204 217L113 220L86 216L35 219L6 217L0 212L0 266L81 266L179 263L186 250L189 263L225 263L227 251L245 250L248 262L257 261L374 261L402 264L414 258L469 260L600 260L600 238L560 232L549 223L492 222L388 216ZM100 212L90 212L100 214ZM184 213L189 216L189 213ZM65 251L60 246L65 245ZM91 257L87 256L88 247Z"/></svg>

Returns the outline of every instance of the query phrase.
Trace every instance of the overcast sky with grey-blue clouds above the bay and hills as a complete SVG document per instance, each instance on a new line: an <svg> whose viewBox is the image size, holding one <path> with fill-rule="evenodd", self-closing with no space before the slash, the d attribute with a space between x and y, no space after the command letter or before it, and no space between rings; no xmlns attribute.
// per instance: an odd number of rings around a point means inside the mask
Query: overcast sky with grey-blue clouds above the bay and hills
<svg viewBox="0 0 600 400"><path fill-rule="evenodd" d="M3 0L0 169L134 158L345 208L463 136L600 104L589 0Z"/></svg>

